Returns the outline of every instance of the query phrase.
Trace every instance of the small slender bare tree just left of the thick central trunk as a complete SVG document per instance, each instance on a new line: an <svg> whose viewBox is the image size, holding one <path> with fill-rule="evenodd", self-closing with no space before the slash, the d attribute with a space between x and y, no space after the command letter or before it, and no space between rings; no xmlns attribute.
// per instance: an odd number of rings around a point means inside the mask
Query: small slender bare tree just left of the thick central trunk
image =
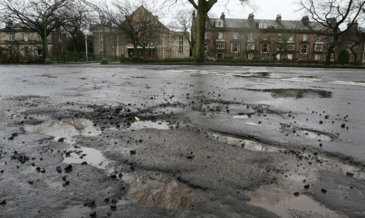
<svg viewBox="0 0 365 218"><path fill-rule="evenodd" d="M194 38L190 37L193 20L193 10L191 9L180 9L174 14L174 19L169 24L170 29L177 32L172 33L173 37L178 38L181 35L185 36L192 52L193 58L195 58Z"/></svg>

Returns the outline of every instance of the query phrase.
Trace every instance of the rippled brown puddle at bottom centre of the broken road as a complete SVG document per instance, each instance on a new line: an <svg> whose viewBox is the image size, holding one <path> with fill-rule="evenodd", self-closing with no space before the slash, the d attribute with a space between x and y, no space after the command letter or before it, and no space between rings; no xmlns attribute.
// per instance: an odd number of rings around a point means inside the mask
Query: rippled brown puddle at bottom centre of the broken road
<svg viewBox="0 0 365 218"><path fill-rule="evenodd" d="M157 206L182 211L187 203L197 200L196 194L190 188L160 173L123 175L123 180L130 184L128 200L146 207Z"/></svg>

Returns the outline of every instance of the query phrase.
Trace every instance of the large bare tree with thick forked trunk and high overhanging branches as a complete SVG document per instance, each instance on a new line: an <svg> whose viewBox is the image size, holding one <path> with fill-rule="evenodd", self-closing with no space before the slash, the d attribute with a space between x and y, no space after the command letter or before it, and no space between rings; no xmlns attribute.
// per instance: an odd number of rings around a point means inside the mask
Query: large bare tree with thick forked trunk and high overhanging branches
<svg viewBox="0 0 365 218"><path fill-rule="evenodd" d="M175 4L178 0L166 0ZM188 0L191 5L197 10L197 20L196 20L196 34L194 38L196 43L194 47L196 48L195 60L197 63L203 63L204 59L204 34L205 34L205 23L207 21L208 12L212 9L213 5L217 3L218 0ZM251 5L252 0L239 0L242 5ZM228 4L229 0L226 0ZM184 2L185 3L185 2Z"/></svg>

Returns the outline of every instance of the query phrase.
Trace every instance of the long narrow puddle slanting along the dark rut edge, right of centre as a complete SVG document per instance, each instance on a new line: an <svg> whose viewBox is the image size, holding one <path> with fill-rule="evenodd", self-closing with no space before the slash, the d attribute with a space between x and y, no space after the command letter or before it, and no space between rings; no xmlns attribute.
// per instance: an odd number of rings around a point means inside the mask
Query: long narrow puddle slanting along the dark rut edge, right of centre
<svg viewBox="0 0 365 218"><path fill-rule="evenodd" d="M221 134L212 134L212 136L221 142L228 143L230 145L235 145L238 147L245 148L247 150L251 151L277 151L277 149L255 142L244 138L236 138L236 137L230 137L226 135Z"/></svg>

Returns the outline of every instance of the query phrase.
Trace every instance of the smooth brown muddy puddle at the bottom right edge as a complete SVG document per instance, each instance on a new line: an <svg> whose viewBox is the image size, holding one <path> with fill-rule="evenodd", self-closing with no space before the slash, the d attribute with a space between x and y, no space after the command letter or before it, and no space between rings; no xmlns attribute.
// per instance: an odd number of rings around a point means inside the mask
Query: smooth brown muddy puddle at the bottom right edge
<svg viewBox="0 0 365 218"><path fill-rule="evenodd" d="M266 210L282 218L292 218L291 209L327 215L329 217L337 217L337 214L322 206L320 203L312 200L305 195L294 195L294 191L290 191L285 187L278 185L261 186L256 191L246 192L252 200L249 204L262 207ZM314 216L315 217L315 216Z"/></svg>

